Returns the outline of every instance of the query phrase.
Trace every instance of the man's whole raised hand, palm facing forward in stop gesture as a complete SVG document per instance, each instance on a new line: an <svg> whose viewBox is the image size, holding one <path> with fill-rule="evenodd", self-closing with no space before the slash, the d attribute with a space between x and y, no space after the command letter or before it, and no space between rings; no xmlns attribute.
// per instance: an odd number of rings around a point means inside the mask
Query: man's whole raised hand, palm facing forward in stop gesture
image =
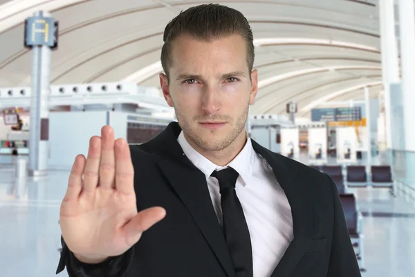
<svg viewBox="0 0 415 277"><path fill-rule="evenodd" d="M137 213L134 168L129 145L115 141L113 129L89 142L88 158L75 158L60 207L60 227L78 260L98 263L118 256L140 240L142 232L165 217L160 207Z"/></svg>

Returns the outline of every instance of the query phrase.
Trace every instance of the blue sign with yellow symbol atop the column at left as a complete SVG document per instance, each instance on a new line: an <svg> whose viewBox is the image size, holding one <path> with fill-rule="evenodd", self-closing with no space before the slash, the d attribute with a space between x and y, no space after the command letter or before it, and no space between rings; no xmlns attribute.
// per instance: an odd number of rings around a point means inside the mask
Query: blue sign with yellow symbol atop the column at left
<svg viewBox="0 0 415 277"><path fill-rule="evenodd" d="M26 47L49 46L56 48L58 24L52 17L28 17L25 24Z"/></svg>

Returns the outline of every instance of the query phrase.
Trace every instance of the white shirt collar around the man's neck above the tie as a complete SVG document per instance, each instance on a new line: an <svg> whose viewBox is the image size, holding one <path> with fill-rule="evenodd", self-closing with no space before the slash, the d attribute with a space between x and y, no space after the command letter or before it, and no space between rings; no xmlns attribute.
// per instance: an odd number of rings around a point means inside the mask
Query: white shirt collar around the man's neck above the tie
<svg viewBox="0 0 415 277"><path fill-rule="evenodd" d="M249 183L250 178L252 177L252 171L255 165L255 151L252 148L252 143L250 138L247 138L245 146L237 157L235 157L228 165L226 166L217 166L216 164L212 163L212 161L206 159L202 154L197 152L192 145L190 145L185 136L183 131L177 138L178 143L181 145L181 148L184 154L187 156L190 161L199 168L205 174L206 179L210 177L214 170L221 170L223 168L228 168L229 166L232 167L234 170L237 170L239 173L243 186Z"/></svg>

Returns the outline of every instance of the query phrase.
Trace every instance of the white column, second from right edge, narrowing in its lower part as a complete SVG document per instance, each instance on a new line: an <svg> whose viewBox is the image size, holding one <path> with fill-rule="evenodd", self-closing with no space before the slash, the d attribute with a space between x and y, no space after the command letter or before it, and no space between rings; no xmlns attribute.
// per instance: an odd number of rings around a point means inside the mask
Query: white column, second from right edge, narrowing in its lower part
<svg viewBox="0 0 415 277"><path fill-rule="evenodd" d="M395 34L394 0L379 1L382 80L385 89L387 148L391 149L391 94L389 84L399 82L398 45Z"/></svg>

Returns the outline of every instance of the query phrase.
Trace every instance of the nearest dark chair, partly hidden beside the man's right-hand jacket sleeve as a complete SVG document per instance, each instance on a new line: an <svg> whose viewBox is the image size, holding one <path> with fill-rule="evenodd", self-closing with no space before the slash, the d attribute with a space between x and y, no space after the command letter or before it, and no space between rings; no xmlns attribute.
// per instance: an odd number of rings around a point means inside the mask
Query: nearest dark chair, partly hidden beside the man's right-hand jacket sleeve
<svg viewBox="0 0 415 277"><path fill-rule="evenodd" d="M364 268L365 260L363 259L362 215L356 206L356 198L351 193L339 195L339 197L351 242L353 247L358 248L356 256L360 260L360 270L366 271Z"/></svg>

